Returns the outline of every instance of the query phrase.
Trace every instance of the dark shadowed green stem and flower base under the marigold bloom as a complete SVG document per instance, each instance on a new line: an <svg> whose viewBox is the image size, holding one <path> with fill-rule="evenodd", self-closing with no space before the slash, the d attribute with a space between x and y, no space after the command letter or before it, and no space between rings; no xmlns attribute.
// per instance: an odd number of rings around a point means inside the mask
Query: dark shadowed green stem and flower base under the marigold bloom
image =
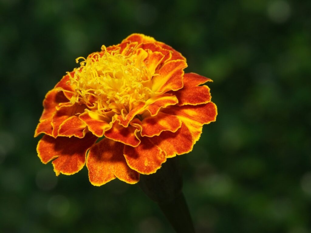
<svg viewBox="0 0 311 233"><path fill-rule="evenodd" d="M157 202L177 233L194 233L192 219L182 193L177 157L168 159L156 173L141 175L140 188Z"/></svg>

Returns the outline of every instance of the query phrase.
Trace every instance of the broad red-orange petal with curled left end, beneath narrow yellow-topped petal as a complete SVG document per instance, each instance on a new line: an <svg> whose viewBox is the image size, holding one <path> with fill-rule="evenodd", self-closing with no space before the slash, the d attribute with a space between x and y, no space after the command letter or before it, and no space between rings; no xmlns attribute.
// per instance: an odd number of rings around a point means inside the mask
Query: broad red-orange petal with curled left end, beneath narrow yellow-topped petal
<svg viewBox="0 0 311 233"><path fill-rule="evenodd" d="M142 136L153 137L160 135L163 131L176 132L181 126L181 121L176 116L159 112L156 116L146 117L142 121L134 119L131 124L141 126Z"/></svg>

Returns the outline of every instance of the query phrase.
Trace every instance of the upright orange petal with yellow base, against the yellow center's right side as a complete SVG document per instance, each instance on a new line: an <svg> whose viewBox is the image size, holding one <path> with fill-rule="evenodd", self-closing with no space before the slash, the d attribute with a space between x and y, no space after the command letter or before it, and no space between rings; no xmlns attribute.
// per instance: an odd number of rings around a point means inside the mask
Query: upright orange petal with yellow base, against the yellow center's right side
<svg viewBox="0 0 311 233"><path fill-rule="evenodd" d="M156 93L179 90L183 87L183 69L187 63L183 60L173 60L165 63L159 70L159 75L152 77L152 90Z"/></svg>

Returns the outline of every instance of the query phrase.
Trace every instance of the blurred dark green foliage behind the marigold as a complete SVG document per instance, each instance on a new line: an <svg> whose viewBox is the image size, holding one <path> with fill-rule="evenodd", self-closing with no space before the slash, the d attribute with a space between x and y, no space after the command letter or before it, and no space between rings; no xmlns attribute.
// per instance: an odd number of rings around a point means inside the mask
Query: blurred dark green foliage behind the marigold
<svg viewBox="0 0 311 233"><path fill-rule="evenodd" d="M311 2L0 0L0 232L173 232L137 185L56 177L35 148L75 58L144 33L214 80L215 123L179 157L198 233L311 232Z"/></svg>

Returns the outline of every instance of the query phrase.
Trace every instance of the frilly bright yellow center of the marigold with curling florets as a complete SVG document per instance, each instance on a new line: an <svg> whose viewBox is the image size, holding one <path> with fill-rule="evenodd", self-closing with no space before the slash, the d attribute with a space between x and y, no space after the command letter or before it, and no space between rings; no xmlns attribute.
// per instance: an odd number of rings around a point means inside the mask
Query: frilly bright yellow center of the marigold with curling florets
<svg viewBox="0 0 311 233"><path fill-rule="evenodd" d="M146 101L152 95L151 77L144 59L147 52L122 55L118 51L107 52L103 45L103 53L94 53L84 58L78 57L80 67L75 68L70 78L75 89L72 103L86 104L97 108L100 115L106 112L129 112L138 101Z"/></svg>

